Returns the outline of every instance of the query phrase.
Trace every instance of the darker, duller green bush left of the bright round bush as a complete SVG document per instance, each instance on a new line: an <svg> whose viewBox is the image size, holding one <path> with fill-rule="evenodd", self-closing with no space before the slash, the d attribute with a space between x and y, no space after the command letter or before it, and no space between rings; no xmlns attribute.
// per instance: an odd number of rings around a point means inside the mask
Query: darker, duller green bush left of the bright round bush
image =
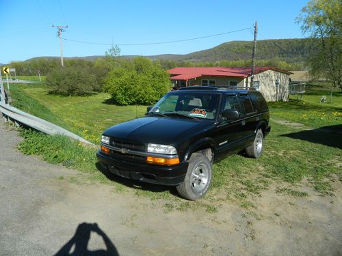
<svg viewBox="0 0 342 256"><path fill-rule="evenodd" d="M96 76L88 67L56 68L47 74L49 93L62 96L86 96L98 91Z"/></svg>

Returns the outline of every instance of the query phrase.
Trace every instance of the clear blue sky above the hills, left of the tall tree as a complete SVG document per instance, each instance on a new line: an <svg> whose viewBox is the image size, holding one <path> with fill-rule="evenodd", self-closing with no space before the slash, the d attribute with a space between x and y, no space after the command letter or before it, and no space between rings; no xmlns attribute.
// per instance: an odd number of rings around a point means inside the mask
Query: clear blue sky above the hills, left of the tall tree
<svg viewBox="0 0 342 256"><path fill-rule="evenodd" d="M231 1L103 1L0 0L0 63L31 57L59 56L54 25L63 33L64 56L104 55L110 45L140 44L198 38L239 29L211 38L144 46L120 46L122 55L185 54L233 40L252 40L258 21L258 40L302 38L295 24L306 0Z"/></svg>

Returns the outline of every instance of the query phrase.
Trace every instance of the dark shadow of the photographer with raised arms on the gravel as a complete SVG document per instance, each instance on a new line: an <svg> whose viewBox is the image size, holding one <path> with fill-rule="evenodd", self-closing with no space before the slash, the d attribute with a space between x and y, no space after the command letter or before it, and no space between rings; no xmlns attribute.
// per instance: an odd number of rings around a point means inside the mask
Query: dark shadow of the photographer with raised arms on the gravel
<svg viewBox="0 0 342 256"><path fill-rule="evenodd" d="M88 250L88 242L90 240L90 233L94 232L103 238L103 242L105 242L106 250L96 250L89 251ZM71 249L74 248L73 252ZM55 256L64 256L64 255L93 255L93 256L118 256L118 251L114 244L109 240L105 232L103 232L96 223L81 223L76 229L75 235L71 238L62 248L58 251Z"/></svg>

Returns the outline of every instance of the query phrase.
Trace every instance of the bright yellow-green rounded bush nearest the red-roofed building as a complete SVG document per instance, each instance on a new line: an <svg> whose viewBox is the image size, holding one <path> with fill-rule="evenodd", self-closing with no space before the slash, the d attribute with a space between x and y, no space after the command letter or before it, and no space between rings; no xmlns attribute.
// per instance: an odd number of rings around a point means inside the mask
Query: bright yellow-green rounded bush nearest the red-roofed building
<svg viewBox="0 0 342 256"><path fill-rule="evenodd" d="M104 89L120 105L153 104L170 89L168 72L159 63L137 57L120 61L105 79Z"/></svg>

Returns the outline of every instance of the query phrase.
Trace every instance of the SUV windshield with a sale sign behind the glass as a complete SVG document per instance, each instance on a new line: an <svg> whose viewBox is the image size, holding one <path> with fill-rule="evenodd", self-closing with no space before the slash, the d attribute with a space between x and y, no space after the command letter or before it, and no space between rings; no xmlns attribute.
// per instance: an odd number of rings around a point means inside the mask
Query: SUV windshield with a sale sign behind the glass
<svg viewBox="0 0 342 256"><path fill-rule="evenodd" d="M173 92L163 96L148 113L166 116L215 119L220 94L194 91Z"/></svg>

